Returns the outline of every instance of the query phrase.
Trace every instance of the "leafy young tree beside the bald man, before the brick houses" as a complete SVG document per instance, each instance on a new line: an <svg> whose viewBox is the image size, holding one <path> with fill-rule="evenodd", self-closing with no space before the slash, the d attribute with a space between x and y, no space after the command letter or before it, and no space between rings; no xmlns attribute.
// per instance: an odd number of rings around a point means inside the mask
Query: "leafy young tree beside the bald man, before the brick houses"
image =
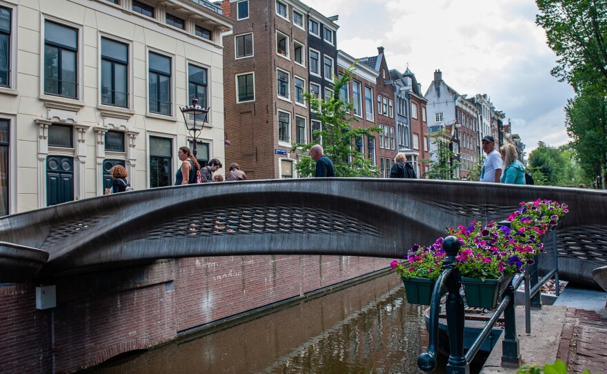
<svg viewBox="0 0 607 374"><path fill-rule="evenodd" d="M347 86L352 80L353 70L352 65L339 79L335 75L333 76L335 81L333 96L327 101L323 101L309 92L304 94L310 109L321 121L322 128L312 132L312 141L309 144L292 144L291 152L298 150L302 152L295 166L300 177L314 175L316 162L303 152L307 152L315 144L321 144L324 154L333 161L335 177L375 177L378 174L372 160L365 158L364 153L356 149L355 142L362 141L362 139L375 139L374 133L379 133L379 127L355 128L352 126L350 122L358 121L355 116L351 115L354 104L351 100L346 103L339 95L341 88Z"/></svg>

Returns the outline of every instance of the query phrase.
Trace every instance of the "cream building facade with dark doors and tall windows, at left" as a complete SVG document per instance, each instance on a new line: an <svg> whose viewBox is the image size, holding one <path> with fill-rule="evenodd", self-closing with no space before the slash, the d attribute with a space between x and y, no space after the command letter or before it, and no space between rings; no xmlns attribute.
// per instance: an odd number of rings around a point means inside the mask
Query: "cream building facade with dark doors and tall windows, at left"
<svg viewBox="0 0 607 374"><path fill-rule="evenodd" d="M223 160L231 24L203 0L0 0L0 215L103 195L116 164L174 184L192 97L198 158Z"/></svg>

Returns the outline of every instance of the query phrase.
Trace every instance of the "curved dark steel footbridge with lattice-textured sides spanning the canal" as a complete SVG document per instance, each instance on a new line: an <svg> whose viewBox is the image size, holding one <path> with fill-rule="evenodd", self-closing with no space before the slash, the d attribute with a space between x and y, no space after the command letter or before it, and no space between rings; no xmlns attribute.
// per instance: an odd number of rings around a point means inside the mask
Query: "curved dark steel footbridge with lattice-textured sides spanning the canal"
<svg viewBox="0 0 607 374"><path fill-rule="evenodd" d="M72 201L0 218L0 282L155 259L253 254L401 258L446 228L501 221L537 198L569 206L561 276L607 264L607 192L419 179L194 184Z"/></svg>

